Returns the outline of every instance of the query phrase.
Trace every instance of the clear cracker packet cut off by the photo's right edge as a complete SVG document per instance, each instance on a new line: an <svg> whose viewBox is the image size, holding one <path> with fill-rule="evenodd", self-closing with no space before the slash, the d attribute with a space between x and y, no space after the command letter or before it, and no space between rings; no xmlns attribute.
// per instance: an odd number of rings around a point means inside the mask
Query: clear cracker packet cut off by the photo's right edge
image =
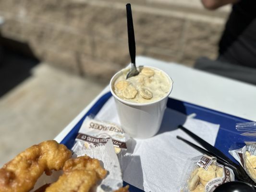
<svg viewBox="0 0 256 192"><path fill-rule="evenodd" d="M250 178L256 182L256 142L244 143L244 147L230 150L229 153L239 162Z"/></svg>

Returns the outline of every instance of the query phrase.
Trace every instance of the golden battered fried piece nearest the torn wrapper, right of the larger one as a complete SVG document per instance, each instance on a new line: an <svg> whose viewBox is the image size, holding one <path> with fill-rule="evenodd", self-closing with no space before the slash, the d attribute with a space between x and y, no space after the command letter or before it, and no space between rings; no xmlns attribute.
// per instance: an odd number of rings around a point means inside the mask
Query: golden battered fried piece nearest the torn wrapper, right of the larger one
<svg viewBox="0 0 256 192"><path fill-rule="evenodd" d="M67 160L63 171L63 175L52 183L46 192L89 192L97 181L102 180L107 174L98 159L89 156Z"/></svg>

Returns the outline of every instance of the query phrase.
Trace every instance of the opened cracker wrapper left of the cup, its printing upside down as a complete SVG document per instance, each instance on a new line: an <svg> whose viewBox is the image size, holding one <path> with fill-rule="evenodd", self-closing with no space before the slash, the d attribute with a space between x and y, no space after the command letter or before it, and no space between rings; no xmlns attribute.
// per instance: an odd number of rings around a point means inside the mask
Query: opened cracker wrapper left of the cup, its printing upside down
<svg viewBox="0 0 256 192"><path fill-rule="evenodd" d="M126 134L119 126L87 116L76 136L72 151L76 153L80 150L104 145L110 138L112 139L116 154L127 149Z"/></svg>

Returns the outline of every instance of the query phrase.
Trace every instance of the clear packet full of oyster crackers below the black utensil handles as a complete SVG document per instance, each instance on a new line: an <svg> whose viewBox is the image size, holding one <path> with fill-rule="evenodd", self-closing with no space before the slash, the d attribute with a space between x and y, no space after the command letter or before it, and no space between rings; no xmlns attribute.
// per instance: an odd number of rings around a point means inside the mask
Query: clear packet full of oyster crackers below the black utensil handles
<svg viewBox="0 0 256 192"><path fill-rule="evenodd" d="M188 161L179 192L213 192L220 184L234 180L232 169L217 163L216 157L202 155Z"/></svg>

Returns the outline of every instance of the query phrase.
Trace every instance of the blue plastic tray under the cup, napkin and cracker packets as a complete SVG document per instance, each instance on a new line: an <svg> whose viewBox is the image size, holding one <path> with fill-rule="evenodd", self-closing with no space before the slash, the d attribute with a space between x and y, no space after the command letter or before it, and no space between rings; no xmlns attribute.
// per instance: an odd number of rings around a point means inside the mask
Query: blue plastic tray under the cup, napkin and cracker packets
<svg viewBox="0 0 256 192"><path fill-rule="evenodd" d="M102 106L108 101L111 93L107 93L102 96L92 108L84 115L84 117L79 120L79 122L73 127L73 129L65 136L65 138L61 141L62 144L65 144L69 149L72 148L74 144L74 140L76 135L85 120L85 117L94 114L96 115L98 111L102 108ZM245 137L240 135L241 132L235 130L235 124L239 122L248 122L250 120L245 120L239 117L235 117L232 115L228 115L225 113L221 113L219 111L211 110L208 108L203 108L197 105L193 105L187 102L182 102L176 99L168 99L167 107L180 111L183 114L190 115L192 113L196 113L196 119L205 120L211 123L219 124L219 132L216 138L215 146L219 148L225 155L229 156L233 161L233 157L229 154L230 147L236 143L238 145L244 145L244 141L256 141L253 138ZM124 182L124 185L127 183ZM130 185L131 192L142 192L138 188Z"/></svg>

